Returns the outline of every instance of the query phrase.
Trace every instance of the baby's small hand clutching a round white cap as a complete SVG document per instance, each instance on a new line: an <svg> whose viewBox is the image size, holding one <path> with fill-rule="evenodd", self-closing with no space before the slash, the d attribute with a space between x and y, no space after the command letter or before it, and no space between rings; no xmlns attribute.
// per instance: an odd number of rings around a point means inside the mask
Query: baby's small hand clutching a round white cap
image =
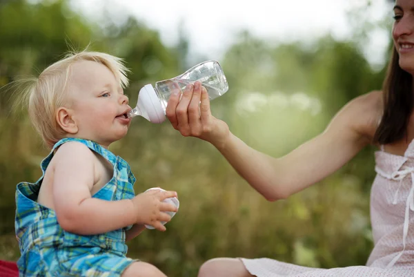
<svg viewBox="0 0 414 277"><path fill-rule="evenodd" d="M159 231L166 231L166 227L161 223L161 221L169 222L171 220L171 216L166 211L177 212L178 210L174 205L163 202L166 198L171 197L177 197L177 192L152 189L132 198L137 214L136 223L150 225Z"/></svg>

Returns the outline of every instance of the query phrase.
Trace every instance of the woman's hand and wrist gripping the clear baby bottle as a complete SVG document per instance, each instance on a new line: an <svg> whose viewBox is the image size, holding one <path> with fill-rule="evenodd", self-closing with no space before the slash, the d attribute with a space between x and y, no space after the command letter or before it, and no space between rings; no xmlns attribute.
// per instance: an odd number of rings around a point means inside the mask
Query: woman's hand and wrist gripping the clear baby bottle
<svg viewBox="0 0 414 277"><path fill-rule="evenodd" d="M184 93L175 89L166 108L172 126L184 137L198 137L221 149L230 137L228 125L217 120L210 111L210 99L200 82L188 84ZM200 104L201 102L201 104Z"/></svg>

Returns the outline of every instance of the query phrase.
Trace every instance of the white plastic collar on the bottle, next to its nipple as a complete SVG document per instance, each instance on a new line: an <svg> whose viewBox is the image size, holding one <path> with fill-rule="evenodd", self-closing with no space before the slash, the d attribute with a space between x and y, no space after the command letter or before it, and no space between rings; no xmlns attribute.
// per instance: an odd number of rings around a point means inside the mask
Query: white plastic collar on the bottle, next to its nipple
<svg viewBox="0 0 414 277"><path fill-rule="evenodd" d="M141 102L141 103L139 103ZM161 101L157 97L154 88L151 84L145 85L139 90L138 104L140 104L140 110L146 111L151 123L161 123L166 120L164 108L161 106Z"/></svg>

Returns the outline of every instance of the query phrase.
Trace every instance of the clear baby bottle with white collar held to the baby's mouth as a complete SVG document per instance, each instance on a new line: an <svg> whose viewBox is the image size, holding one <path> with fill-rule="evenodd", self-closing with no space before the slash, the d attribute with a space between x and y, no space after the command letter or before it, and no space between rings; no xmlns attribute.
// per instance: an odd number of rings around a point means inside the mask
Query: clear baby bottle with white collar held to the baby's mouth
<svg viewBox="0 0 414 277"><path fill-rule="evenodd" d="M217 61L204 61L185 73L164 81L155 83L155 87L147 84L139 90L137 106L128 117L141 115L152 123L161 123L166 120L166 107L170 95L174 91L184 91L188 84L201 82L207 90L208 97L213 100L228 90L226 76Z"/></svg>

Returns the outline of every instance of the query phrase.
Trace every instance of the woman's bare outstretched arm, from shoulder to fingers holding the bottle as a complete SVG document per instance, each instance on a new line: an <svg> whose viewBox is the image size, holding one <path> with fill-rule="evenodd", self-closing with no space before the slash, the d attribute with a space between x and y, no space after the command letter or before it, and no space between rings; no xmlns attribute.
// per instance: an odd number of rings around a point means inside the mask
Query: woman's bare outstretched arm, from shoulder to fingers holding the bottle
<svg viewBox="0 0 414 277"><path fill-rule="evenodd" d="M208 95L205 89L201 93L199 84L194 90L184 91L181 100L172 95L167 116L184 136L199 137L215 145L239 175L266 199L278 200L322 180L369 144L378 118L379 99L380 93L357 97L337 113L324 133L279 158L252 149L230 133L226 123L211 115Z"/></svg>

